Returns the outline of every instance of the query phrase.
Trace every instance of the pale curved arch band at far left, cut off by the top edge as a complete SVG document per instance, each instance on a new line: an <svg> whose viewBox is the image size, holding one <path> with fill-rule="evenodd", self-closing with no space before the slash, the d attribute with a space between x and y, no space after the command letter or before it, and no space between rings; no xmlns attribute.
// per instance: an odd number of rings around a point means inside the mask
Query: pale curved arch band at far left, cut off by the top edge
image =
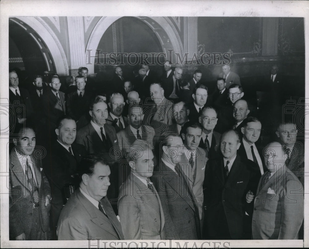
<svg viewBox="0 0 309 249"><path fill-rule="evenodd" d="M69 64L66 53L53 30L40 17L15 18L30 26L44 41L53 58L57 74L69 75Z"/></svg>

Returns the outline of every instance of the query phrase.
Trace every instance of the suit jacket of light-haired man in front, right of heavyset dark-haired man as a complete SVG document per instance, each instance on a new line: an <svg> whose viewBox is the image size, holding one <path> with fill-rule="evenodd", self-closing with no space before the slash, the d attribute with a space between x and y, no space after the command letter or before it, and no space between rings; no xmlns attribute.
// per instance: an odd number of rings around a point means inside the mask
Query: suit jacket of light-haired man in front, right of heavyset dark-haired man
<svg viewBox="0 0 309 249"><path fill-rule="evenodd" d="M118 213L125 239L165 239L164 213L155 194L131 174L120 188Z"/></svg>

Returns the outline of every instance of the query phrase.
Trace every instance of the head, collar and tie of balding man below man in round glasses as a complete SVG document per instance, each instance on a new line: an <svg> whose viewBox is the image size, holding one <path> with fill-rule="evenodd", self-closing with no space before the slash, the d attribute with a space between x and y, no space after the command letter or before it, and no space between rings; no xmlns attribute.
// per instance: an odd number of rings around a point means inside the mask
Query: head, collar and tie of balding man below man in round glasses
<svg viewBox="0 0 309 249"><path fill-rule="evenodd" d="M239 134L242 134L242 122L245 118L247 118L249 112L250 110L248 109L247 101L239 99L233 104L233 118L235 124L231 128L237 131Z"/></svg>

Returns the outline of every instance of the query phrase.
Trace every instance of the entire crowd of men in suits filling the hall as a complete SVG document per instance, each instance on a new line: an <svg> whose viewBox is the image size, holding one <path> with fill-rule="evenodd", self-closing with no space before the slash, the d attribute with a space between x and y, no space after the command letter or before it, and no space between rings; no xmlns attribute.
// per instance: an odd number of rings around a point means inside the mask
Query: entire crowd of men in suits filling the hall
<svg viewBox="0 0 309 249"><path fill-rule="evenodd" d="M117 66L103 93L86 67L35 75L29 92L9 72L12 240L303 238L295 122L278 119L263 144L264 113L229 65L212 93L198 69L164 71Z"/></svg>

